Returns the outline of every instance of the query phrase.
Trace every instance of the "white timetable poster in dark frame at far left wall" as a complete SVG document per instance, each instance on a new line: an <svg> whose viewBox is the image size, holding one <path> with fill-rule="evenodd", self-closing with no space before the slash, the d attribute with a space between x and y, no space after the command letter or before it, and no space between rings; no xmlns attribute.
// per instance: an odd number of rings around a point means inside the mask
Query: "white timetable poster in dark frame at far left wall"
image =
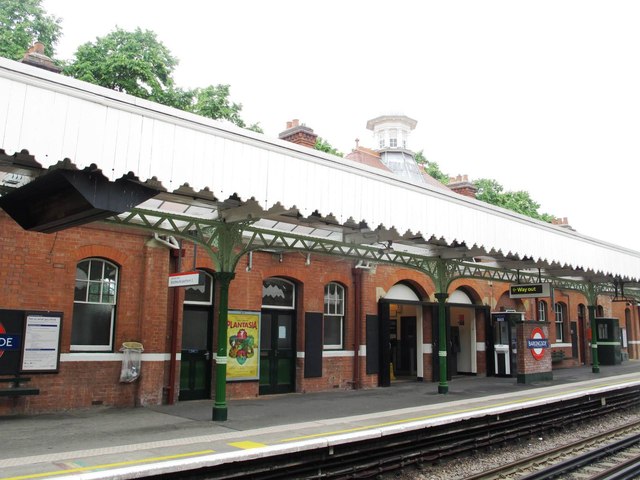
<svg viewBox="0 0 640 480"><path fill-rule="evenodd" d="M23 372L57 372L62 313L30 313L24 325Z"/></svg>

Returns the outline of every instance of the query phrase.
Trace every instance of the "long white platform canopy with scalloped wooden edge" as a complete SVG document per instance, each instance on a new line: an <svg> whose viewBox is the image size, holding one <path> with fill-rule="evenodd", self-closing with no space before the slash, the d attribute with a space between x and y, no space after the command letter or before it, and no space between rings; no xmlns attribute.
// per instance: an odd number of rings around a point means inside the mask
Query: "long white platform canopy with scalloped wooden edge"
<svg viewBox="0 0 640 480"><path fill-rule="evenodd" d="M592 282L640 281L637 251L344 158L0 59L3 208L8 210L6 198L12 192L60 169L85 172L90 182L120 182L127 192L135 186L138 192L120 210L140 201L140 209L225 222L252 219L267 231L344 244L512 270L542 269L546 275ZM86 178L79 180L84 187L78 187L78 180L68 177L57 181L67 182L65 188L74 192L86 189ZM40 181L43 186L51 183ZM32 188L37 192L40 187ZM74 213L73 205L64 208ZM121 213L110 205L90 208L94 216L87 221L100 213ZM82 222L74 218L73 224ZM44 221L48 227L41 231L65 226L51 218ZM37 226L30 229L38 231Z"/></svg>

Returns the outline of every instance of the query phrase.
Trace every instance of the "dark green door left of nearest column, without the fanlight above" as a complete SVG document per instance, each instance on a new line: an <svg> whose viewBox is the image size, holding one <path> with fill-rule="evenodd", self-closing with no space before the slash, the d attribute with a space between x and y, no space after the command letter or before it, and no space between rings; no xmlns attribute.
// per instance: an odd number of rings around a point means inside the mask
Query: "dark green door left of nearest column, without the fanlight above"
<svg viewBox="0 0 640 480"><path fill-rule="evenodd" d="M179 400L211 398L211 307L185 305Z"/></svg>

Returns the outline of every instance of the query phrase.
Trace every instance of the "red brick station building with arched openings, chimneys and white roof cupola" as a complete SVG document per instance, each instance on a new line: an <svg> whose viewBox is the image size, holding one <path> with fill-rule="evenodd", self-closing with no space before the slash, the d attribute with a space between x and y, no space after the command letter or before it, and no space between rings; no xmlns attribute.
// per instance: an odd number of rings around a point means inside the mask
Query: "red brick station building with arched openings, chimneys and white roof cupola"
<svg viewBox="0 0 640 480"><path fill-rule="evenodd" d="M380 148L356 146L350 159L405 168L406 144L382 143L403 119L378 120L386 125L384 133L374 130ZM287 126L282 138L313 141L311 129ZM451 188L473 193L464 177ZM27 232L3 211L0 231L0 315L59 312L62 319L56 371L30 375L39 395L0 397L0 415L213 398L216 272L198 247L105 223ZM203 282L167 286L185 271L201 272ZM405 267L287 251L247 255L229 291L229 362L241 373L228 374L228 398L437 381L435 291L426 274ZM548 322L547 352L562 352L554 368L590 362L580 293L555 289L548 298L514 300L507 283L476 279L458 279L447 293L449 375L497 373L489 337L491 314L500 311ZM640 358L638 307L600 296L597 314L619 319L625 355ZM122 377L127 342L143 349L134 381ZM253 370L243 374L244 365Z"/></svg>

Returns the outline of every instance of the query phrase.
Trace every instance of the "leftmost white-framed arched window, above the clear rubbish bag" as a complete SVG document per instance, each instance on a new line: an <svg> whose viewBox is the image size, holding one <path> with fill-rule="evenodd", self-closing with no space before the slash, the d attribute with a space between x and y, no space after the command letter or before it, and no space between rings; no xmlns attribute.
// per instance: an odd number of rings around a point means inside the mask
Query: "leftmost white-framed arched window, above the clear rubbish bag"
<svg viewBox="0 0 640 480"><path fill-rule="evenodd" d="M88 258L78 263L71 350L113 350L117 293L116 265L101 258Z"/></svg>

